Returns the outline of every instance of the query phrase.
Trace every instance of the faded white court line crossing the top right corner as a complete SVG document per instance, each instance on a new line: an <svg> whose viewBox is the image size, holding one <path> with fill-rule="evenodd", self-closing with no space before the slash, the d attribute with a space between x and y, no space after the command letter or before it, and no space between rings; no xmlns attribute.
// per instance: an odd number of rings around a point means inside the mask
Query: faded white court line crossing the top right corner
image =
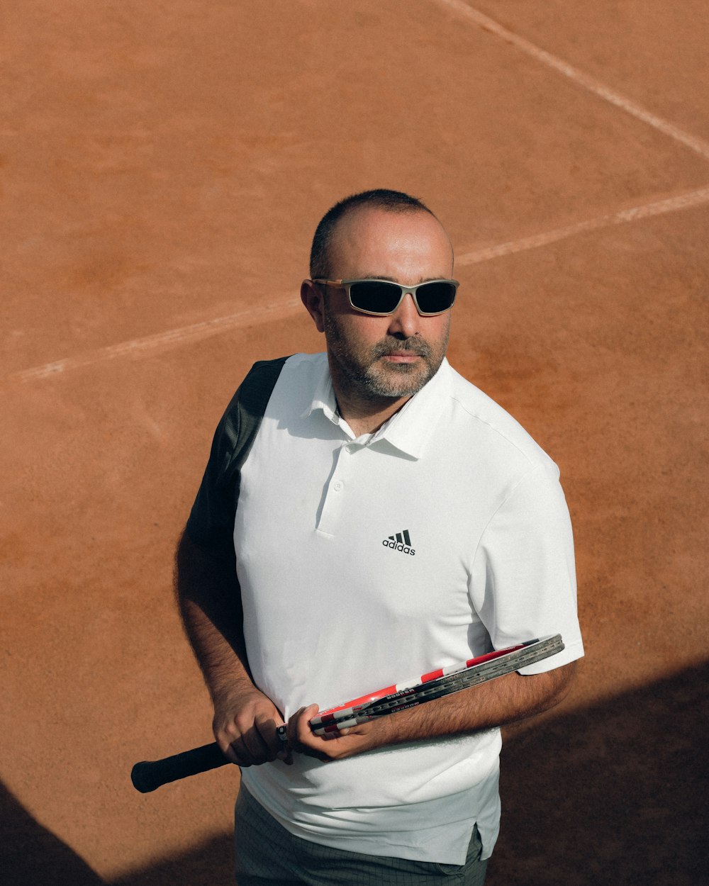
<svg viewBox="0 0 709 886"><path fill-rule="evenodd" d="M657 114L647 111L641 105L636 105L635 102L625 96L621 96L619 92L610 89L605 86L604 83L594 80L593 77L589 77L588 74L584 74L578 68L567 64L562 58L557 58L557 56L552 55L550 52L542 50L539 46L530 43L530 41L526 40L524 37L520 37L513 31L503 27L503 25L498 24L495 19L490 19L483 12L473 9L471 6L464 3L463 0L437 0L437 2L443 6L448 6L448 9L457 12L464 16L464 18L471 19L471 21L474 21L477 25L483 27L486 31L490 31L492 34L502 37L507 43L512 43L516 46L518 50L526 52L528 56L535 58L544 65L554 68L559 74L564 74L569 80L578 83L579 86L588 89L589 92L595 93L596 96L604 98L604 100L610 102L611 105L616 105L616 107L629 113L631 116L637 118L637 120L643 120L644 123L658 129L659 132L664 133L666 136L673 138L675 142L679 142L697 154L700 154L705 159L709 159L709 143L705 142L703 139L697 138L696 136L690 136L689 133L674 126L673 123L663 120L662 117L658 117Z"/></svg>

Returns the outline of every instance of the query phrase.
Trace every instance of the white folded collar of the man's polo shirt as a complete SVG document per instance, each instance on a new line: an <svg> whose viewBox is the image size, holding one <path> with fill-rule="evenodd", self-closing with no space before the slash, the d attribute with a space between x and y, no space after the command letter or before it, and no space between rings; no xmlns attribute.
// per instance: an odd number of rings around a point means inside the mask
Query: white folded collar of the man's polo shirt
<svg viewBox="0 0 709 886"><path fill-rule="evenodd" d="M376 446L386 442L403 455L421 458L447 400L452 371L448 360L444 358L431 381L371 435L369 445ZM307 418L316 410L322 411L332 424L339 424L337 400L327 361L323 361L323 372L318 379L313 400L302 417Z"/></svg>

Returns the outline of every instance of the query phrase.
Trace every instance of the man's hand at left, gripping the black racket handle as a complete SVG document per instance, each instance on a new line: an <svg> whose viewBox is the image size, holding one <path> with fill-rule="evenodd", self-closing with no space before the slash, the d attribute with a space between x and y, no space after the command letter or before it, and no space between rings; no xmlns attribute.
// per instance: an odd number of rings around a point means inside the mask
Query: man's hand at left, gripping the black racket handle
<svg viewBox="0 0 709 886"><path fill-rule="evenodd" d="M276 705L256 688L214 699L214 738L237 766L261 766L275 759L292 763L276 732L283 722Z"/></svg>

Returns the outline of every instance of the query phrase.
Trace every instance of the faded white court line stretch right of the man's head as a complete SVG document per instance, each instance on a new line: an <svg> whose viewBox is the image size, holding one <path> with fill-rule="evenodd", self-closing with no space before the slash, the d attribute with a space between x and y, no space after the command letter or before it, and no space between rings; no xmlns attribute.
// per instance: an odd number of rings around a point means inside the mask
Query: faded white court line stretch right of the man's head
<svg viewBox="0 0 709 886"><path fill-rule="evenodd" d="M693 190L689 194L679 194L677 197L658 200L656 203L631 206L629 209L621 209L618 213L611 215L599 215L595 219L577 221L575 224L566 225L565 228L555 228L544 231L541 234L534 234L532 237L522 237L519 240L510 240L507 243L487 246L472 253L456 255L456 265L474 265L479 261L489 261L501 255L511 255L512 253L524 252L527 249L536 249L538 246L555 243L557 240L565 240L566 237L573 237L574 234L582 234L584 231L612 228L613 225L627 224L628 221L638 221L639 219L650 218L652 215L677 212L680 209L688 209L690 206L701 206L704 203L709 203L709 188Z"/></svg>

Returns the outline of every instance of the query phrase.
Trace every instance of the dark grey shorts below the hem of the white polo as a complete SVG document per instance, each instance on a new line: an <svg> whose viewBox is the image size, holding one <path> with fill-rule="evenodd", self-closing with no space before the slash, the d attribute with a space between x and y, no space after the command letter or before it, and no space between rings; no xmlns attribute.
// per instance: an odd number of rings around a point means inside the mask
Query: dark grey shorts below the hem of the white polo
<svg viewBox="0 0 709 886"><path fill-rule="evenodd" d="M390 859L331 849L293 836L258 804L239 791L235 810L238 886L483 886L487 860L473 828L464 865Z"/></svg>

